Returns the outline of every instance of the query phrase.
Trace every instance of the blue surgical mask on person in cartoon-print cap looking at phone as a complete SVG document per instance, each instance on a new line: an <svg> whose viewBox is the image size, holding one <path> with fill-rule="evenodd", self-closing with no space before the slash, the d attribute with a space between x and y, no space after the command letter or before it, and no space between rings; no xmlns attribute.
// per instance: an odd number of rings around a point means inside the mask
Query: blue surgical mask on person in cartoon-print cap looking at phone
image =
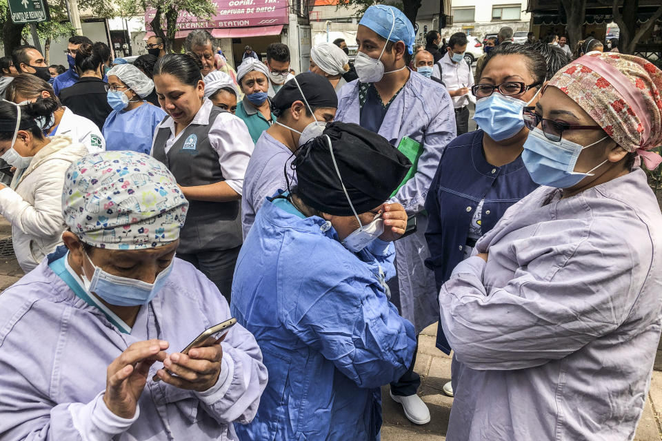
<svg viewBox="0 0 662 441"><path fill-rule="evenodd" d="M81 277L86 291L88 293L94 293L97 297L110 303L110 305L116 306L139 306L149 303L163 287L163 283L165 283L168 275L170 275L172 263L174 262L174 259L170 261L170 265L157 275L154 283L146 283L134 278L109 274L97 267L97 265L94 265L87 253L85 253L85 256L90 261L90 264L92 264L92 267L94 267L92 280L89 280L85 275Z"/></svg>

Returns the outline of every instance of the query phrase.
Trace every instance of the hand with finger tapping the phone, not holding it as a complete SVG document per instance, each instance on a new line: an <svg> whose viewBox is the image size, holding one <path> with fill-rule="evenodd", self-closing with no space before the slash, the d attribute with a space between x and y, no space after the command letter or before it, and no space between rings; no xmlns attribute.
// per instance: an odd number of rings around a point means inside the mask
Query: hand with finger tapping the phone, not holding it
<svg viewBox="0 0 662 441"><path fill-rule="evenodd" d="M136 342L115 358L106 371L106 407L121 418L133 418L138 399L145 389L150 366L165 360L168 342L147 340Z"/></svg>

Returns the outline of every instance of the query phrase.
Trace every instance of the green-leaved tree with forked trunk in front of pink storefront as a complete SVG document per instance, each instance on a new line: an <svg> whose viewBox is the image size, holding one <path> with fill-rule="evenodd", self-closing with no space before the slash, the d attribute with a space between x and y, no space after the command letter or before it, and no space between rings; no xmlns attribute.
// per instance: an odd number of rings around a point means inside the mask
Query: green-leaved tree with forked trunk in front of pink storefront
<svg viewBox="0 0 662 441"><path fill-rule="evenodd" d="M119 0L122 17L141 14L146 10L155 10L152 21L146 22L146 28L165 41L165 52L172 52L177 18L184 11L199 21L208 20L216 12L217 6L211 0Z"/></svg>

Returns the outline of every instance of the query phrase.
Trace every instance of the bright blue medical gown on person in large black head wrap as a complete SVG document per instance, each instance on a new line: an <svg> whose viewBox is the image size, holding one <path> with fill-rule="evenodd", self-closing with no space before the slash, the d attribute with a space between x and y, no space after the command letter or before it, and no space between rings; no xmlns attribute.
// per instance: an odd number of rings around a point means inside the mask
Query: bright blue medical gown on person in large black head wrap
<svg viewBox="0 0 662 441"><path fill-rule="evenodd" d="M407 370L414 327L379 278L394 249L352 254L322 218L265 201L243 243L232 316L257 339L269 382L240 440L377 440L382 384Z"/></svg>

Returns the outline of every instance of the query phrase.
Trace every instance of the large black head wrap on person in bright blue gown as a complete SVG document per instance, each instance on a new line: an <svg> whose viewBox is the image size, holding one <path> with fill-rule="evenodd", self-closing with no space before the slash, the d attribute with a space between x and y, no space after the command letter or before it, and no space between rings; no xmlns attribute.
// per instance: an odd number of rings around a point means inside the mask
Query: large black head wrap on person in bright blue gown
<svg viewBox="0 0 662 441"><path fill-rule="evenodd" d="M297 194L306 205L320 212L334 216L354 214L324 135L331 140L342 182L358 214L387 201L412 166L382 136L357 124L330 123L322 136L301 146L292 162L297 171Z"/></svg>

